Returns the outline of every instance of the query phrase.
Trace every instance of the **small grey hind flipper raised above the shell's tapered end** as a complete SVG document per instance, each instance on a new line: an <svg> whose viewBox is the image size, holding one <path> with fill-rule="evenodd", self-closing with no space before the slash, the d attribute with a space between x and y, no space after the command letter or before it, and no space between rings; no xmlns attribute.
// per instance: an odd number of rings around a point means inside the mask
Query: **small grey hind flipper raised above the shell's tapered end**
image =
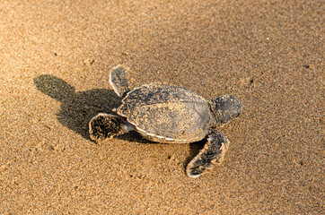
<svg viewBox="0 0 325 215"><path fill-rule="evenodd" d="M123 65L118 65L110 72L110 85L119 97L124 97L130 91L127 70Z"/></svg>

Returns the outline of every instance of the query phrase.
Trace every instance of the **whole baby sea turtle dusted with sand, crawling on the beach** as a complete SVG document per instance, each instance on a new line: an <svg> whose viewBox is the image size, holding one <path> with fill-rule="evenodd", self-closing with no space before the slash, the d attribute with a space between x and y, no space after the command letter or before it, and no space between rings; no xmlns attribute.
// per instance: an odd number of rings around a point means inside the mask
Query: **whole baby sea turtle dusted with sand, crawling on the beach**
<svg viewBox="0 0 325 215"><path fill-rule="evenodd" d="M110 72L110 85L122 99L117 115L98 114L89 123L93 141L135 130L153 142L186 143L206 139L186 173L198 177L221 163L229 141L215 130L242 113L242 101L224 95L206 101L197 93L178 86L149 83L130 90L127 68L118 65Z"/></svg>

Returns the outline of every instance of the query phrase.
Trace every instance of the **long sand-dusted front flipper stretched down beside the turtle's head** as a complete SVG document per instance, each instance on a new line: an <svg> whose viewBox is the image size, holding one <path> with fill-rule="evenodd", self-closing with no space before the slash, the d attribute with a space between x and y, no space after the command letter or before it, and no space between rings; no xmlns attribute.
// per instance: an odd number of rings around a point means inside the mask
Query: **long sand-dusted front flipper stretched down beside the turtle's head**
<svg viewBox="0 0 325 215"><path fill-rule="evenodd" d="M198 177L206 173L207 169L224 160L224 153L228 149L229 141L224 133L211 130L207 135L206 145L198 155L189 162L186 173L189 177Z"/></svg>

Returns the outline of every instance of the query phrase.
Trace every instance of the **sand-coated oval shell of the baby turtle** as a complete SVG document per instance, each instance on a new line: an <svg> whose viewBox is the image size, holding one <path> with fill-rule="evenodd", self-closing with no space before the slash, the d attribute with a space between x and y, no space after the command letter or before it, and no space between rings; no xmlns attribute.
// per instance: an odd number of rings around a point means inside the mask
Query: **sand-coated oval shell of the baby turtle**
<svg viewBox="0 0 325 215"><path fill-rule="evenodd" d="M206 99L185 88L161 83L128 92L117 112L154 142L202 140L213 122Z"/></svg>

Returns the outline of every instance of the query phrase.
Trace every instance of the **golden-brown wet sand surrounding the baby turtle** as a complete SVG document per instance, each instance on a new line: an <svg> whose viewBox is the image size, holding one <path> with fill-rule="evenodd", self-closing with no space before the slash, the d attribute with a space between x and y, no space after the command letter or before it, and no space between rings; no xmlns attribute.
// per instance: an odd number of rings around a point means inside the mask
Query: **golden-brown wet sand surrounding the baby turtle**
<svg viewBox="0 0 325 215"><path fill-rule="evenodd" d="M1 214L323 214L324 4L313 1L1 1ZM87 124L133 87L168 82L245 113L224 163L193 179L204 142Z"/></svg>

